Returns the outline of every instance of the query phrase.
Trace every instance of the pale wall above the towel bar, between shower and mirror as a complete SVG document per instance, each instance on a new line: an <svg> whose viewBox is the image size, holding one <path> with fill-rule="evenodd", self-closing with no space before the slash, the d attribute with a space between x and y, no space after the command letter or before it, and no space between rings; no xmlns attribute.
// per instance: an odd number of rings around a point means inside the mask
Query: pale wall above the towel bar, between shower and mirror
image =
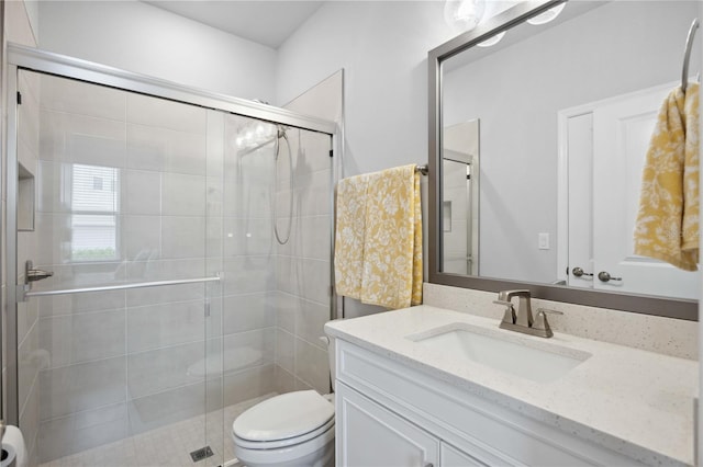
<svg viewBox="0 0 703 467"><path fill-rule="evenodd" d="M345 70L345 176L427 161L427 52L444 2L332 1L278 50L277 102Z"/></svg>

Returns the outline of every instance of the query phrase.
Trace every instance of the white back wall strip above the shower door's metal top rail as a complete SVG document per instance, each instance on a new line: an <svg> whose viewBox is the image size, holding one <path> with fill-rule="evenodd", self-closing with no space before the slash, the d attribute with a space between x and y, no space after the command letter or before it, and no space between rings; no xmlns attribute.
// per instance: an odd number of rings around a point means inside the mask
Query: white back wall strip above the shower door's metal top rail
<svg viewBox="0 0 703 467"><path fill-rule="evenodd" d="M274 101L276 50L138 1L41 1L40 47L181 84Z"/></svg>

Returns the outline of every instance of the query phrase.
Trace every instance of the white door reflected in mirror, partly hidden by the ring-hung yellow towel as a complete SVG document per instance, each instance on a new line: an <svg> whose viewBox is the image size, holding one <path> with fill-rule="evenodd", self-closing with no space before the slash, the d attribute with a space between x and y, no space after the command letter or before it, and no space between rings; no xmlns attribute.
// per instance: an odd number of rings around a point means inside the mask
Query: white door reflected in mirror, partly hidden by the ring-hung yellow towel
<svg viewBox="0 0 703 467"><path fill-rule="evenodd" d="M635 255L641 169L661 103L672 86L631 94L593 111L593 286L698 298L700 272ZM598 274L612 277L600 281Z"/></svg>

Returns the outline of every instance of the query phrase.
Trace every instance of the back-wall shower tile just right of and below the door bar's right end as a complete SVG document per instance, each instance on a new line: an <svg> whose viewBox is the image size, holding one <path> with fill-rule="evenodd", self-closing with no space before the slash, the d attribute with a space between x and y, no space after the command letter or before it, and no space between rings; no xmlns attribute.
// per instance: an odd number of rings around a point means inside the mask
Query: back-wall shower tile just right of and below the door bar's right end
<svg viewBox="0 0 703 467"><path fill-rule="evenodd" d="M224 297L223 332L233 334L276 326L276 294Z"/></svg>

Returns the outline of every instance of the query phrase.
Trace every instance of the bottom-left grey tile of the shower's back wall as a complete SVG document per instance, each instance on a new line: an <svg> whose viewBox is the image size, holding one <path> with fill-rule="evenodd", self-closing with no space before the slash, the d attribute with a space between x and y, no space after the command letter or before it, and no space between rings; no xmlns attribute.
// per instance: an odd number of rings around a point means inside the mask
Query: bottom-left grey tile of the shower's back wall
<svg viewBox="0 0 703 467"><path fill-rule="evenodd" d="M124 402L87 410L41 423L40 462L46 463L129 435Z"/></svg>

